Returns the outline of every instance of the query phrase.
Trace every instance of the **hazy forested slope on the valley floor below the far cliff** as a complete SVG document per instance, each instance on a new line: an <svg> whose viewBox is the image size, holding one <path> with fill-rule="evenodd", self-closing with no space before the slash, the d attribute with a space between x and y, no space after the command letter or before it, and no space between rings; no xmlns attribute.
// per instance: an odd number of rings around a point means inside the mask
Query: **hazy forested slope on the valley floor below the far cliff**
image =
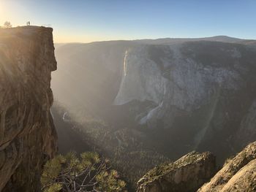
<svg viewBox="0 0 256 192"><path fill-rule="evenodd" d="M56 102L52 109L59 135L59 151L67 153L69 150L75 150L81 153L84 151L82 149L86 149L108 157L111 166L127 181L129 191L135 190L136 183L149 169L170 161L161 153L143 145L145 138L134 128L113 128L102 120L88 118L80 111L77 111L74 117L65 108ZM65 112L68 112L68 115L63 120ZM76 119L78 117L83 118ZM62 130L63 128L65 130ZM73 136L64 137L63 131L73 134L76 140L73 140Z"/></svg>

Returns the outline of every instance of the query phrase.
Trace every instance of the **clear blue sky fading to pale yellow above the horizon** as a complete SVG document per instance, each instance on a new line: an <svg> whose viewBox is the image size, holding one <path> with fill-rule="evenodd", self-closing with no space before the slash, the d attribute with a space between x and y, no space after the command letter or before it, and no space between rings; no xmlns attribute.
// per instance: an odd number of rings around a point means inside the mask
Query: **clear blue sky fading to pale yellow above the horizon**
<svg viewBox="0 0 256 192"><path fill-rule="evenodd" d="M0 0L0 25L51 26L55 42L211 37L256 39L256 0Z"/></svg>

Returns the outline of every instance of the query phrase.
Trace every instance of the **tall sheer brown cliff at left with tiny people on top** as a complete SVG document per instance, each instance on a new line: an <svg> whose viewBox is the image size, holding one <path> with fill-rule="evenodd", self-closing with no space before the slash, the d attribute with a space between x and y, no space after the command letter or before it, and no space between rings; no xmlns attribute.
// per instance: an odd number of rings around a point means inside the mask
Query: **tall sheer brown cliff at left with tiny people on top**
<svg viewBox="0 0 256 192"><path fill-rule="evenodd" d="M39 191L42 165L56 153L52 31L0 30L0 191Z"/></svg>

